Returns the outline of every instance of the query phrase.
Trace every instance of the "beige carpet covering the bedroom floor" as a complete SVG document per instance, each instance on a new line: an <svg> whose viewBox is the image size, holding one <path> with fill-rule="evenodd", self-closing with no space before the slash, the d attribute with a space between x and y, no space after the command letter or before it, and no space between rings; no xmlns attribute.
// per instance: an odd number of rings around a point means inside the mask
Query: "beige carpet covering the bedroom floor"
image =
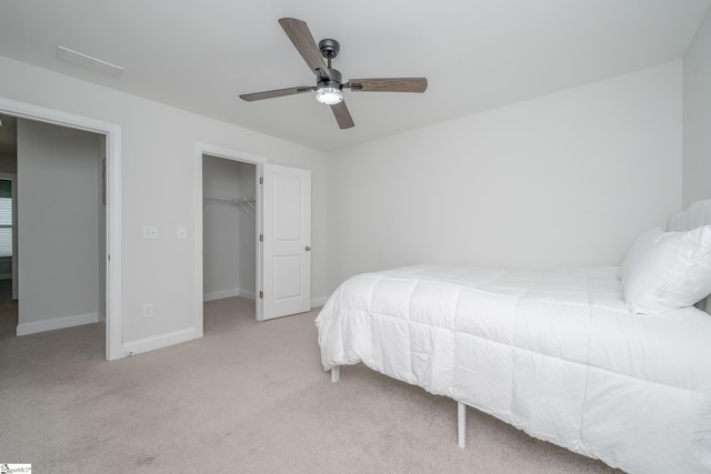
<svg viewBox="0 0 711 474"><path fill-rule="evenodd" d="M610 473L362 365L333 384L317 312L206 304L201 340L104 361L98 324L0 335L0 463L36 473Z"/></svg>

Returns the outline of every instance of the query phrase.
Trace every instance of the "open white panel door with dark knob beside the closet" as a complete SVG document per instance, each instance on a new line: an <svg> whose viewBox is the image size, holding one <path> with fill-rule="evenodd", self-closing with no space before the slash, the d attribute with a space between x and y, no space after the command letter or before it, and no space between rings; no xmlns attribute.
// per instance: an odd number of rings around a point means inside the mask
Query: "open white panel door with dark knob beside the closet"
<svg viewBox="0 0 711 474"><path fill-rule="evenodd" d="M263 164L263 320L311 310L311 171Z"/></svg>

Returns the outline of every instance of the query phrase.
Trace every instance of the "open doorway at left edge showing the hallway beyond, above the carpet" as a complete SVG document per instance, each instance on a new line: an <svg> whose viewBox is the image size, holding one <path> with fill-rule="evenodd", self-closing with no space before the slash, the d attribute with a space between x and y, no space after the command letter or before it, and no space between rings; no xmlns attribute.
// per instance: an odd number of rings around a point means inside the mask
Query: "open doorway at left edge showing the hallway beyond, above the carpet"
<svg viewBox="0 0 711 474"><path fill-rule="evenodd" d="M106 323L106 135L7 114L0 123L2 333Z"/></svg>

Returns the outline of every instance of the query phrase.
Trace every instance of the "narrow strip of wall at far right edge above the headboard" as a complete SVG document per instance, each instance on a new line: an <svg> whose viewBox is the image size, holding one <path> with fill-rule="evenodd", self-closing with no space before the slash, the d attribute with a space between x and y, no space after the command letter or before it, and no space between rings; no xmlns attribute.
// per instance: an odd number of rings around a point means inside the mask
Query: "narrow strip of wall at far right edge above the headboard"
<svg viewBox="0 0 711 474"><path fill-rule="evenodd" d="M711 10L683 61L683 204L711 198Z"/></svg>

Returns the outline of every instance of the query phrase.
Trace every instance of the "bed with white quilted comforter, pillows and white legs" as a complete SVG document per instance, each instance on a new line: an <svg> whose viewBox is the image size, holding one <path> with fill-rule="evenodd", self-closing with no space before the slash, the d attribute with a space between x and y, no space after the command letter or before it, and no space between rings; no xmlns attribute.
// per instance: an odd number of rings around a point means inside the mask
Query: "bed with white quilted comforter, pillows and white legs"
<svg viewBox="0 0 711 474"><path fill-rule="evenodd" d="M711 472L711 201L621 266L421 264L343 282L321 362L363 363L629 473ZM695 306L694 306L695 303Z"/></svg>

